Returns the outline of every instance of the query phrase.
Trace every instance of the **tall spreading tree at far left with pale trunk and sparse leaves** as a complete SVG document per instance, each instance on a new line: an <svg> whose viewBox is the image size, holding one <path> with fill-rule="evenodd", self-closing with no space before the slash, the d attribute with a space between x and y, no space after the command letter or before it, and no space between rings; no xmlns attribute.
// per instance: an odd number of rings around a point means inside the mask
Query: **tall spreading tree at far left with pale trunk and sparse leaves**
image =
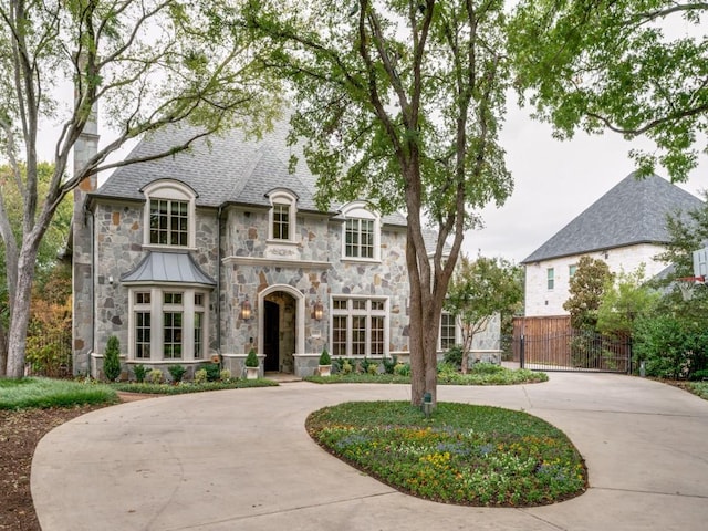
<svg viewBox="0 0 708 531"><path fill-rule="evenodd" d="M10 166L7 186L22 202L21 230L10 222L7 189L0 190L0 236L9 293L7 373L24 366L32 280L40 242L63 198L97 171L138 163L110 163L108 155L140 135L189 123L194 135L165 146L150 159L185 149L199 137L242 126L256 132L275 108L279 91L252 60L236 25L232 2L177 0L74 0L0 4L0 149ZM218 45L217 45L218 44ZM74 102L54 97L75 85ZM101 101L102 121L114 136L83 167L67 162ZM59 122L53 170L39 192L39 131Z"/></svg>

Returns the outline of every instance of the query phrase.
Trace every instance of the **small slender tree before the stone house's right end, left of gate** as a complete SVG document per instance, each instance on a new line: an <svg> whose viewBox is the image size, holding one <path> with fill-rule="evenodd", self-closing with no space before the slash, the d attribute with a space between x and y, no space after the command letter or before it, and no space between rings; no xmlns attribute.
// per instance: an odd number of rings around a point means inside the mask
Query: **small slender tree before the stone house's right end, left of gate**
<svg viewBox="0 0 708 531"><path fill-rule="evenodd" d="M504 259L480 256L471 261L462 256L445 301L462 330L462 374L467 374L475 335L493 315L513 313L523 298L523 285L517 282L519 269Z"/></svg>

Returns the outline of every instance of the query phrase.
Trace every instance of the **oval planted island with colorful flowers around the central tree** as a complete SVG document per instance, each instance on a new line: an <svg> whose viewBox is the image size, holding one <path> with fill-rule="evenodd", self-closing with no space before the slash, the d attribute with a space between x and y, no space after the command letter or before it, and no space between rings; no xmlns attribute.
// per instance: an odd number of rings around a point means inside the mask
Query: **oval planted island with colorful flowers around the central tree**
<svg viewBox="0 0 708 531"><path fill-rule="evenodd" d="M434 501L528 507L581 494L583 458L568 437L522 412L439 403L430 418L403 402L346 403L306 420L333 455Z"/></svg>

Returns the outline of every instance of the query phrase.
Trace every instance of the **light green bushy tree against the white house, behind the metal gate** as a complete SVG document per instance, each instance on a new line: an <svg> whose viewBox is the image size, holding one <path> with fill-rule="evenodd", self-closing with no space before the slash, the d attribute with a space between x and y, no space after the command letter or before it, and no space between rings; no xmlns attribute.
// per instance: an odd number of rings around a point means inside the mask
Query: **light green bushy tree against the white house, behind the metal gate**
<svg viewBox="0 0 708 531"><path fill-rule="evenodd" d="M652 312L659 293L646 284L644 264L636 271L622 271L607 280L600 308L597 309L597 332L607 335L632 335L634 322Z"/></svg>

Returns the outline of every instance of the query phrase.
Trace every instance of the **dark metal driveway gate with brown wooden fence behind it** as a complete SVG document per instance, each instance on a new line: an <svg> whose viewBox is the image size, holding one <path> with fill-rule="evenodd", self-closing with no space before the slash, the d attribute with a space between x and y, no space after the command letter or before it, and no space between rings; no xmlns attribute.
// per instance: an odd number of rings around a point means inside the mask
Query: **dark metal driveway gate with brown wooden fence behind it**
<svg viewBox="0 0 708 531"><path fill-rule="evenodd" d="M571 329L569 316L517 317L513 358L523 368L629 373L629 337L611 337Z"/></svg>

